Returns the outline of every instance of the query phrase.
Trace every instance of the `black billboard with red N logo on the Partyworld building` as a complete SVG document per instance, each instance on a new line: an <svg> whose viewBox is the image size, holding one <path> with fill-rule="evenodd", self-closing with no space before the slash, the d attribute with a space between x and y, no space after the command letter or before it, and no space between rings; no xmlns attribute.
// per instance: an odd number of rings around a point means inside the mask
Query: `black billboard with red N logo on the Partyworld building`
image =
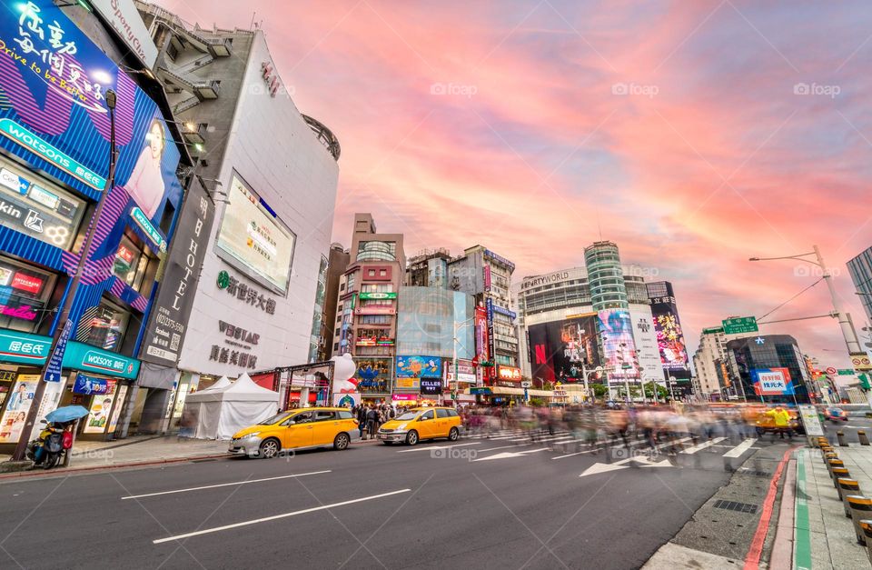
<svg viewBox="0 0 872 570"><path fill-rule="evenodd" d="M530 367L533 378L573 382L601 365L597 315L576 315L562 321L530 325Z"/></svg>

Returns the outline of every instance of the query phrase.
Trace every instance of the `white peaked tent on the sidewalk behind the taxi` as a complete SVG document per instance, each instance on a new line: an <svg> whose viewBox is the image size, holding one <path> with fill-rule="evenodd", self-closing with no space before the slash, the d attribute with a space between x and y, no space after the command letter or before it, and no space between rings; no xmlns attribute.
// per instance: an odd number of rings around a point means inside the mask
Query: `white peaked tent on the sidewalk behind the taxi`
<svg viewBox="0 0 872 570"><path fill-rule="evenodd" d="M224 380L225 378L223 378ZM181 435L198 439L230 439L233 434L275 415L279 393L241 375L232 384L215 385L188 395L184 401Z"/></svg>

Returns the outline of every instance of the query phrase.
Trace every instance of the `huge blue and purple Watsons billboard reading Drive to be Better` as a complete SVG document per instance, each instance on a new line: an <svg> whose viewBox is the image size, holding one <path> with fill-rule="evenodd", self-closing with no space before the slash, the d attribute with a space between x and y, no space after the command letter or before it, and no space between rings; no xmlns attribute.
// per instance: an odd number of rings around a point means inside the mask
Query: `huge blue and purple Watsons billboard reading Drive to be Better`
<svg viewBox="0 0 872 570"><path fill-rule="evenodd" d="M145 226L159 251L166 236L154 228L168 202L179 210L182 187L180 153L154 101L51 0L0 4L0 52L0 148L92 200L108 194L92 258L114 255L128 225ZM109 89L117 99L114 188L106 187Z"/></svg>

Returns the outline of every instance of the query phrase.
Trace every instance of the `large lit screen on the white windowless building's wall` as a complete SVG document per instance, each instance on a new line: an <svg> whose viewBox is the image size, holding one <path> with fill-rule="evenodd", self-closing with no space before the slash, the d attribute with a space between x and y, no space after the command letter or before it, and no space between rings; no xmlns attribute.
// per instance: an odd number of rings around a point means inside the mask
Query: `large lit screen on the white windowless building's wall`
<svg viewBox="0 0 872 570"><path fill-rule="evenodd" d="M235 172L227 200L215 244L218 256L261 285L287 294L297 236Z"/></svg>

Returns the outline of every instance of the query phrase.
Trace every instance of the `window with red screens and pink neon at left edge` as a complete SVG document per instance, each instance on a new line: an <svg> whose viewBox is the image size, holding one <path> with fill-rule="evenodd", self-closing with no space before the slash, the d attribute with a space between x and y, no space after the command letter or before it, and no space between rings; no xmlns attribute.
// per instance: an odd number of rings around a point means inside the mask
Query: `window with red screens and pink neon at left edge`
<svg viewBox="0 0 872 570"><path fill-rule="evenodd" d="M54 275L0 256L0 328L33 333L46 316Z"/></svg>

